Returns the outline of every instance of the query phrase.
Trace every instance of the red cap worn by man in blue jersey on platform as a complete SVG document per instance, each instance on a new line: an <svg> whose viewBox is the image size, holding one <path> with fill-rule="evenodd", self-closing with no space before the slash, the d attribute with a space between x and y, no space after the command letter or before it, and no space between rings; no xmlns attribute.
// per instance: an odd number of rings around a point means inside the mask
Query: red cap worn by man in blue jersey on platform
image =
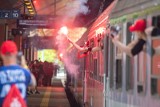
<svg viewBox="0 0 160 107"><path fill-rule="evenodd" d="M0 53L3 54L3 55L17 54L18 49L17 49L17 46L16 46L15 42L9 41L9 40L3 42L2 45L1 45Z"/></svg>

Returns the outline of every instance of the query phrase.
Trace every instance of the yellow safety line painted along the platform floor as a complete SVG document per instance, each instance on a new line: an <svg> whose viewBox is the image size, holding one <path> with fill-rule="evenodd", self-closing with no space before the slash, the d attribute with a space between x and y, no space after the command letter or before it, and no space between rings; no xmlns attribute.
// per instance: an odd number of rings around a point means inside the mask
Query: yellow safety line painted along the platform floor
<svg viewBox="0 0 160 107"><path fill-rule="evenodd" d="M51 95L51 88L47 87L46 92L44 93L42 102L40 104L40 107L48 107L50 95Z"/></svg>

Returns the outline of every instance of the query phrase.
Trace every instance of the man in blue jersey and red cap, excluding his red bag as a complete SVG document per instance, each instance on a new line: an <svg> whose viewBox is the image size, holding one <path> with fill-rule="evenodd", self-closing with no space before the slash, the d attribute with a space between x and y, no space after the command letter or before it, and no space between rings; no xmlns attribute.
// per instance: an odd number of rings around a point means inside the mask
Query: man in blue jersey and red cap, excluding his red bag
<svg viewBox="0 0 160 107"><path fill-rule="evenodd" d="M17 53L15 42L8 40L2 43L0 48L3 61L3 66L0 67L0 107L12 85L16 85L25 101L28 85L36 85L30 71L17 64Z"/></svg>

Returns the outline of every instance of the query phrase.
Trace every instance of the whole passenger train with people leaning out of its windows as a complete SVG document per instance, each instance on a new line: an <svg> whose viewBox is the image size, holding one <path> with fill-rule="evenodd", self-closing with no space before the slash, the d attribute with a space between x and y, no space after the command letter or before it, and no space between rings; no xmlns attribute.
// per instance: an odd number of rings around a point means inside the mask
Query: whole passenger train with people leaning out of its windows
<svg viewBox="0 0 160 107"><path fill-rule="evenodd" d="M160 0L114 0L89 27L77 43L86 40L90 47L104 48L78 59L79 73L71 79L71 90L81 107L160 107L160 56L141 52L129 57L107 36L108 24L118 25L120 41L127 45L136 39L128 28L137 19L160 28L159 10ZM160 37L147 37L147 44L160 46ZM151 53L150 47L147 51Z"/></svg>

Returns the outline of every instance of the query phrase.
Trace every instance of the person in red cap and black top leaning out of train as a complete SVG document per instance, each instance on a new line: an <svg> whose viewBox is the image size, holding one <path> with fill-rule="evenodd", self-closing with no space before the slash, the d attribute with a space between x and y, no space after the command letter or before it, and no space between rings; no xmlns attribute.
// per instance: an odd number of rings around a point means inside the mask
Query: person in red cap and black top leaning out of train
<svg viewBox="0 0 160 107"><path fill-rule="evenodd" d="M157 29L156 27L153 27L154 29ZM113 44L115 44L118 48L120 48L123 52L125 52L130 57L133 57L137 54L139 54L141 51L146 50L145 44L147 40L147 35L149 33L146 32L153 32L154 29L147 28L146 29L146 21L143 19L137 20L133 25L129 27L130 32L134 32L137 36L137 39L133 40L128 45L124 45L121 43L119 39L119 34L116 36L111 36ZM156 34L149 34L151 36L157 35ZM152 53L154 54L156 51L151 47Z"/></svg>

